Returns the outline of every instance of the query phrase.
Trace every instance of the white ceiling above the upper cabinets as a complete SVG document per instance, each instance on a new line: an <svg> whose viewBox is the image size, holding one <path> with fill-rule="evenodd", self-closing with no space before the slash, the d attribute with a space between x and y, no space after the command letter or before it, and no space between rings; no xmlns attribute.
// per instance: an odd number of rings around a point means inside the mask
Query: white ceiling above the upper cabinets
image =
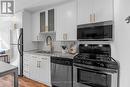
<svg viewBox="0 0 130 87"><path fill-rule="evenodd" d="M66 1L71 1L71 0L15 0L15 10L16 12L22 9L35 11L43 7L63 3Z"/></svg>

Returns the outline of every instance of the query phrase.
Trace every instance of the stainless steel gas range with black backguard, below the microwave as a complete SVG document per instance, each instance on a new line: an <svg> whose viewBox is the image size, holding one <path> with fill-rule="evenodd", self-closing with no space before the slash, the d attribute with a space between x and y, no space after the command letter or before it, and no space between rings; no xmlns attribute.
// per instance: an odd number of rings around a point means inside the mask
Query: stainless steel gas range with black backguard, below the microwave
<svg viewBox="0 0 130 87"><path fill-rule="evenodd" d="M80 44L73 60L73 87L118 87L118 63L108 44Z"/></svg>

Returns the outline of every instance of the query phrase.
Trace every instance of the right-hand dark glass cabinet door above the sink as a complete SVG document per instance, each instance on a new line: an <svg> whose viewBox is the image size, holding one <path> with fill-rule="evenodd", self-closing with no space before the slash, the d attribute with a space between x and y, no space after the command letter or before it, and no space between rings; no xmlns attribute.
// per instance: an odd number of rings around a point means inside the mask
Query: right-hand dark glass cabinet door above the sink
<svg viewBox="0 0 130 87"><path fill-rule="evenodd" d="M54 9L48 10L48 31L54 31Z"/></svg>

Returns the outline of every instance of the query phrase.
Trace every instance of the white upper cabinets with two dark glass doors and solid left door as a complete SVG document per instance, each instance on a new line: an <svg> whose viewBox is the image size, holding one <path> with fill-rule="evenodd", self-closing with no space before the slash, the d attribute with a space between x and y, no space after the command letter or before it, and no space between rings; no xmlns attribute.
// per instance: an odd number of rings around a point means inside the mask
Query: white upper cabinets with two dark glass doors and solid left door
<svg viewBox="0 0 130 87"><path fill-rule="evenodd" d="M40 33L55 31L54 9L32 13L32 41L43 41Z"/></svg>

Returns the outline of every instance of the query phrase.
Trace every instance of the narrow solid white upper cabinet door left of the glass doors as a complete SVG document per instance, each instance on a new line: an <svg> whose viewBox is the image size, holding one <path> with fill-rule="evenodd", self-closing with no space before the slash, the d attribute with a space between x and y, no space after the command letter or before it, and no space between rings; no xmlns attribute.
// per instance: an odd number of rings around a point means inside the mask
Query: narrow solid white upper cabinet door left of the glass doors
<svg viewBox="0 0 130 87"><path fill-rule="evenodd" d="M32 41L38 41L40 33L40 13L32 14Z"/></svg>

